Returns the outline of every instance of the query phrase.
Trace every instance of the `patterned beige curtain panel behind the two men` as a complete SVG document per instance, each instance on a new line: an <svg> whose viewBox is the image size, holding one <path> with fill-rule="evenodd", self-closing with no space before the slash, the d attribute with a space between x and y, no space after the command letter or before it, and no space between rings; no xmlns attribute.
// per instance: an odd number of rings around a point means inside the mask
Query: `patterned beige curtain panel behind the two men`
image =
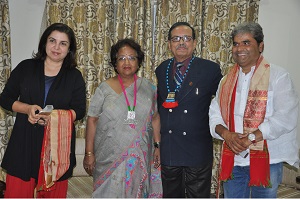
<svg viewBox="0 0 300 199"><path fill-rule="evenodd" d="M168 49L168 30L178 21L190 23L196 31L195 56L220 64L226 74L233 65L230 33L239 23L258 20L259 0L158 0L155 29L155 66L172 57ZM218 188L221 142L214 140L211 193ZM220 187L219 187L220 188Z"/></svg>

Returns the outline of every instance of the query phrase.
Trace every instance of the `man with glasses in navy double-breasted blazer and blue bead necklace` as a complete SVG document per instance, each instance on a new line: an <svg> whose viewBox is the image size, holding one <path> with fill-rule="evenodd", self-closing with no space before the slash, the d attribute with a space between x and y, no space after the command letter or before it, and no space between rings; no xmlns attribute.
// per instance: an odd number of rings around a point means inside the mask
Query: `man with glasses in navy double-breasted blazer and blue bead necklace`
<svg viewBox="0 0 300 199"><path fill-rule="evenodd" d="M177 22L169 30L173 58L162 62L158 80L163 197L209 198L213 143L208 110L220 79L220 66L195 57L195 30Z"/></svg>

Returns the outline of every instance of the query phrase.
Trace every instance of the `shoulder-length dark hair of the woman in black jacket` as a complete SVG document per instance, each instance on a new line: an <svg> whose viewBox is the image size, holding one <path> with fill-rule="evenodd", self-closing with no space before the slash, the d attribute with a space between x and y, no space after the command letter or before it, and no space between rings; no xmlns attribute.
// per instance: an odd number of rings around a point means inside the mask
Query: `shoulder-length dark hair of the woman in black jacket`
<svg viewBox="0 0 300 199"><path fill-rule="evenodd" d="M75 37L74 31L69 26L67 26L66 24L63 24L63 23L54 23L54 24L50 25L44 31L44 33L41 36L40 42L39 42L38 52L32 54L33 59L38 59L38 60L42 60L42 61L44 61L46 59L46 57L47 57L47 53L46 53L47 39L48 39L49 35L55 30L62 32L62 33L66 33L66 35L68 36L69 41L70 41L69 53L65 57L62 67L75 68L77 66L76 37Z"/></svg>

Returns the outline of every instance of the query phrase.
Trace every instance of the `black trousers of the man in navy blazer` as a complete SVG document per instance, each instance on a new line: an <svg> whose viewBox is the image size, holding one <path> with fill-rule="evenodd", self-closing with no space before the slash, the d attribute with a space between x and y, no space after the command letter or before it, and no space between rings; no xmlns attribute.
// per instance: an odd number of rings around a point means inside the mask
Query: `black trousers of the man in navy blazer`
<svg viewBox="0 0 300 199"><path fill-rule="evenodd" d="M209 198L212 163L201 167L161 165L164 198Z"/></svg>

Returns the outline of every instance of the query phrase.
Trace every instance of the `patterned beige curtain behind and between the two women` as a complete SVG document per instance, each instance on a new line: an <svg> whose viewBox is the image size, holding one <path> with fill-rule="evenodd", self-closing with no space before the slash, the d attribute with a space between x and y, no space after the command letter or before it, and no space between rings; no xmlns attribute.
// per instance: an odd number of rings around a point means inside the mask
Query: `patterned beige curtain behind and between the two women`
<svg viewBox="0 0 300 199"><path fill-rule="evenodd" d="M151 0L47 0L46 26L62 22L77 37L77 61L87 86L87 105L98 84L115 75L110 47L118 39L133 38L145 52L139 75L152 79ZM76 125L77 137L85 137L85 118Z"/></svg>

